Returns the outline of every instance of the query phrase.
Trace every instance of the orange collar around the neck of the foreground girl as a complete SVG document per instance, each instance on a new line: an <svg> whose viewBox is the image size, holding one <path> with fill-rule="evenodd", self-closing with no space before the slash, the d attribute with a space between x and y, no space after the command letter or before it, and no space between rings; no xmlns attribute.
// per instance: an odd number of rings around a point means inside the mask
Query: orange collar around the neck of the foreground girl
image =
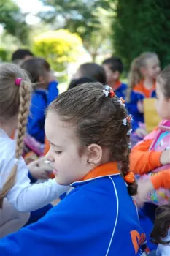
<svg viewBox="0 0 170 256"><path fill-rule="evenodd" d="M90 179L103 176L112 176L115 174L120 174L120 171L117 168L117 162L109 162L105 165L100 165L93 170L90 170L90 172L86 174L82 181L88 181Z"/></svg>

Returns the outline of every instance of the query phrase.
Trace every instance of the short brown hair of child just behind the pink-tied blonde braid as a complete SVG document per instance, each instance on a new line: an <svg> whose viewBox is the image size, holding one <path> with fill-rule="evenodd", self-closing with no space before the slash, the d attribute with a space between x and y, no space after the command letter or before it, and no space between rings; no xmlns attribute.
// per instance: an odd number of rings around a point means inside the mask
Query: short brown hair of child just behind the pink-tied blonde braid
<svg viewBox="0 0 170 256"><path fill-rule="evenodd" d="M31 58L23 61L20 67L28 72L32 83L39 83L39 77L50 71L50 64L43 58Z"/></svg>

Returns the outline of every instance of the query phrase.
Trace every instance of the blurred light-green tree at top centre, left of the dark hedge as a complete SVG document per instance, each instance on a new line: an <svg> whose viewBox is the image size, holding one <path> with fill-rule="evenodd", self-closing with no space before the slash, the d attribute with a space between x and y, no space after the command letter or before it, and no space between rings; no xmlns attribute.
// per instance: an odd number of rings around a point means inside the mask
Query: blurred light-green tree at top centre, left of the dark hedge
<svg viewBox="0 0 170 256"><path fill-rule="evenodd" d="M109 0L42 0L45 5L53 7L39 16L54 28L66 28L82 38L85 48L93 60L98 49L109 39L112 12Z"/></svg>

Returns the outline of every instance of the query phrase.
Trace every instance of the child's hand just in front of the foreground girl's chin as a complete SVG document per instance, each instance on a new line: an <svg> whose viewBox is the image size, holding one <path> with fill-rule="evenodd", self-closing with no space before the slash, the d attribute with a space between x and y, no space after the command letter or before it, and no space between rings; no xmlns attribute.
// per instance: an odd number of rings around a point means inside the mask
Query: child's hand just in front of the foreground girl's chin
<svg viewBox="0 0 170 256"><path fill-rule="evenodd" d="M31 173L31 176L35 179L42 178L47 179L48 178L48 172L47 170L43 170L41 167L42 159L38 159L36 161L31 162L28 164L28 170Z"/></svg>

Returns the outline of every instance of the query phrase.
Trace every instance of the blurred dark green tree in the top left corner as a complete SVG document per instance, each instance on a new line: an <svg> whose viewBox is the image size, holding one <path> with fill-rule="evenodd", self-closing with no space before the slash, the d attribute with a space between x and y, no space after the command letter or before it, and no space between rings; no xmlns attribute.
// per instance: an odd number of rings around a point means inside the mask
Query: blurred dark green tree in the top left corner
<svg viewBox="0 0 170 256"><path fill-rule="evenodd" d="M28 26L25 16L12 0L0 0L0 24L7 33L17 37L23 45L28 44Z"/></svg>

